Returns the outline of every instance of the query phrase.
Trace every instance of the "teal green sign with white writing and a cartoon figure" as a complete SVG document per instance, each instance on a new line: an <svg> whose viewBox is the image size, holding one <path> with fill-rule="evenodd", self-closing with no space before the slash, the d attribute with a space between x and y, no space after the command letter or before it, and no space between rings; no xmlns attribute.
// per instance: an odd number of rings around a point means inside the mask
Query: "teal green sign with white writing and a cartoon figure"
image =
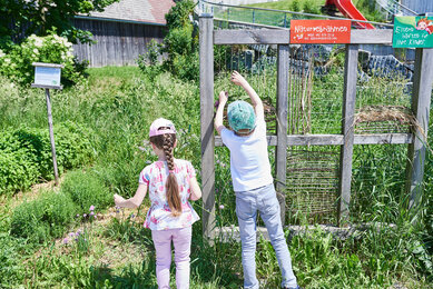
<svg viewBox="0 0 433 289"><path fill-rule="evenodd" d="M433 17L395 17L393 47L433 48Z"/></svg>

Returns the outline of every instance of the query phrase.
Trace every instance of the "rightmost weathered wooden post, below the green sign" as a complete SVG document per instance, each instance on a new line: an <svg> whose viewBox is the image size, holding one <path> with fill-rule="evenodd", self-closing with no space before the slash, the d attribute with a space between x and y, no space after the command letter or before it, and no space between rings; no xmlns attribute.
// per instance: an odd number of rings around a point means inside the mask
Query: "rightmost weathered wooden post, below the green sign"
<svg viewBox="0 0 433 289"><path fill-rule="evenodd" d="M410 193L409 208L416 210L422 196L425 149L427 143L429 116L433 81L433 49L417 48L412 92L412 112L420 127L413 128L413 142L409 144L406 166L406 192Z"/></svg>

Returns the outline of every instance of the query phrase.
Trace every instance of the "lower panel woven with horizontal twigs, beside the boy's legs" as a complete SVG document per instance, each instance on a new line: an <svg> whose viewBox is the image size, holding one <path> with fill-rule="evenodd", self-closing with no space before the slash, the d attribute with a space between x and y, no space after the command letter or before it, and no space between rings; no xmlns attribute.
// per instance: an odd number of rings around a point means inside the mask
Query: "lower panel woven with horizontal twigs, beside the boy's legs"
<svg viewBox="0 0 433 289"><path fill-rule="evenodd" d="M338 147L287 151L286 222L332 222L338 195Z"/></svg>

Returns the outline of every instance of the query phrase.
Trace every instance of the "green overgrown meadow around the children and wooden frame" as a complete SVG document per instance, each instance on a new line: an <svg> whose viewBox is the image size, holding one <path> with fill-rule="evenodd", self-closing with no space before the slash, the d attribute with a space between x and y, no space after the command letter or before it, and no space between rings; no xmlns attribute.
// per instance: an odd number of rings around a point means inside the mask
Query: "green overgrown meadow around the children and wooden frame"
<svg viewBox="0 0 433 289"><path fill-rule="evenodd" d="M72 128L65 133L78 133L82 142L62 147L70 150L65 152L65 159L76 161L65 162L60 186L53 187L50 173L41 172L31 186L18 183L13 188L22 189L4 189L0 193L0 288L157 288L150 231L142 228L149 201L146 199L137 210L117 210L112 195L132 196L140 170L156 159L146 140L149 124L158 117L173 120L179 131L176 158L190 160L199 171L199 86L168 72L149 79L136 67L107 67L88 72L87 81L51 92L55 133L60 123L73 123L76 127L67 126ZM250 78L253 86L263 81ZM273 77L266 81L269 89L263 93L275 104ZM319 106L317 116L325 114L328 120L335 113L338 118L336 111L341 108L332 103L341 99L342 81L343 76L334 71L315 82L313 101L325 103ZM373 84L371 91L376 89L376 92L380 88L391 91L395 87L388 80ZM216 77L216 94L228 86L227 73ZM242 92L232 89L230 94L240 97ZM38 131L48 130L45 106L42 90L19 87L0 78L2 133L26 128L26 142L20 143L33 143L27 140L37 139ZM323 121L315 121L314 132L325 130L321 127ZM331 122L326 130L336 130L338 123L339 119ZM79 140L70 141L81 143ZM432 138L430 143L433 144ZM33 148L30 144L26 147L28 150ZM405 150L405 146L365 146L355 150L356 193L351 222L394 226L381 230L371 227L345 240L314 225L299 236L286 230L301 286L431 288L432 156L427 153L422 207L410 213L402 189ZM7 163L4 159L0 161ZM216 159L216 226L236 226L227 150L218 148ZM390 166L390 159L396 160L395 166ZM194 207L201 213L200 201ZM308 221L296 220L302 225ZM191 288L242 287L238 242L216 239L210 245L201 236L201 222L197 222L191 251ZM256 261L263 288L278 288L281 276L275 253L263 238L257 243Z"/></svg>

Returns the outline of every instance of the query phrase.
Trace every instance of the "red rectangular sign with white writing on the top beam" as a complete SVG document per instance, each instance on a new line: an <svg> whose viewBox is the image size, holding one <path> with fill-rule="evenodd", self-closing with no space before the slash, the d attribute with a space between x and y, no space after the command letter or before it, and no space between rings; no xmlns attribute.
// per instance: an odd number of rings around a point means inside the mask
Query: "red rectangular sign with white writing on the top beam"
<svg viewBox="0 0 433 289"><path fill-rule="evenodd" d="M350 43L351 20L292 20L291 43Z"/></svg>

